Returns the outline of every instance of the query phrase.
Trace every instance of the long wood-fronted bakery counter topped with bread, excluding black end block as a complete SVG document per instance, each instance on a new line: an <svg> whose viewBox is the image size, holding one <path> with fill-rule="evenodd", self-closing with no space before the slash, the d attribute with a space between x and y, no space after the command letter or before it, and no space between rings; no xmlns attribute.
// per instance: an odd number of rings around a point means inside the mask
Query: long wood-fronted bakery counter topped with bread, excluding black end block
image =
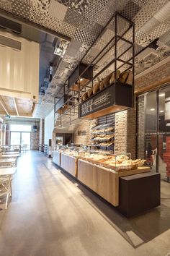
<svg viewBox="0 0 170 256"><path fill-rule="evenodd" d="M102 150L63 148L56 151L60 166L82 184L114 206L119 205L119 178L149 172L144 160L131 160L130 154L113 155ZM60 156L58 156L60 155ZM58 163L57 163L58 164Z"/></svg>

